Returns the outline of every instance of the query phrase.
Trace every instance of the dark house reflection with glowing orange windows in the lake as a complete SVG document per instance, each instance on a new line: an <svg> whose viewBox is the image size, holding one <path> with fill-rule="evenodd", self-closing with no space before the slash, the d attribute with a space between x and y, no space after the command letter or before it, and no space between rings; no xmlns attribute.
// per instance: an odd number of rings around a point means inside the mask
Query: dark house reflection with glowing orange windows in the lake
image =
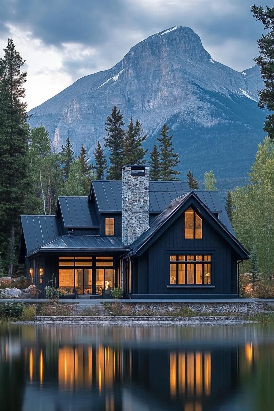
<svg viewBox="0 0 274 411"><path fill-rule="evenodd" d="M81 409L81 397L100 411L206 411L253 372L253 351L251 344L210 350L43 346L25 349L25 369L29 389L39 383L41 395L52 397L60 410L68 404Z"/></svg>

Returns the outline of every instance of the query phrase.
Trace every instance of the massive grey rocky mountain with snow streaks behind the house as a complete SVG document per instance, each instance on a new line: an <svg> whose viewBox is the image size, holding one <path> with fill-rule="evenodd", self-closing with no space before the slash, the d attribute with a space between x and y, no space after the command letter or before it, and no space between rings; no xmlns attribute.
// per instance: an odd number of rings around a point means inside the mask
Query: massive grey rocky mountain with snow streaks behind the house
<svg viewBox="0 0 274 411"><path fill-rule="evenodd" d="M265 112L257 107L263 87L258 67L239 73L215 61L188 27L173 27L136 44L109 70L91 74L32 109L31 127L44 124L60 149L92 157L114 105L127 125L137 118L152 149L163 122L174 135L180 169L198 178L210 169L226 187L240 184L264 137ZM228 179L228 180L226 180Z"/></svg>

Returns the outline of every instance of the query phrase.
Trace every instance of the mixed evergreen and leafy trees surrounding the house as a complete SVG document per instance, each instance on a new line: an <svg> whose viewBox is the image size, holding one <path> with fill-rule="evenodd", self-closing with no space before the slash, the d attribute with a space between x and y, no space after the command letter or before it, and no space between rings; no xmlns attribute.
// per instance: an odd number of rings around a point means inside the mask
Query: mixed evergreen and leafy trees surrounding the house
<svg viewBox="0 0 274 411"><path fill-rule="evenodd" d="M255 12L258 19L266 21L268 18L268 12L262 8L254 9ZM266 46L262 42L262 50L263 47L272 47L269 42L274 43L274 40L268 39ZM257 64L264 66L270 76L274 73L274 59L267 59L267 63L259 59ZM179 178L179 155L173 148L173 136L168 126L163 123L153 150L147 153L143 146L146 135L141 123L130 120L124 127L123 115L117 107L113 107L106 119L104 141L96 144L93 164L90 164L85 147L73 147L69 138L60 152L55 151L43 125L29 129L23 65L24 60L9 39L4 57L0 59L0 273L9 276L21 270L18 266L21 214L54 214L58 195L87 195L92 179L120 180L124 164L145 164L147 154L152 180ZM260 98L263 106L265 93L261 93ZM265 104L269 102L268 99ZM274 282L274 143L271 140L271 119L269 117L265 125L269 136L258 145L256 161L248 176L249 184L228 192L225 200L237 238L251 254L251 259L245 261L241 269L246 276L246 283L241 282L243 295L250 284L254 292L255 284L262 280L269 286ZM76 156L74 150L80 154ZM185 177L181 179L185 180ZM187 172L187 180L191 190L203 188L199 187L200 182L191 170ZM205 173L204 186L205 189L216 189L212 170Z"/></svg>

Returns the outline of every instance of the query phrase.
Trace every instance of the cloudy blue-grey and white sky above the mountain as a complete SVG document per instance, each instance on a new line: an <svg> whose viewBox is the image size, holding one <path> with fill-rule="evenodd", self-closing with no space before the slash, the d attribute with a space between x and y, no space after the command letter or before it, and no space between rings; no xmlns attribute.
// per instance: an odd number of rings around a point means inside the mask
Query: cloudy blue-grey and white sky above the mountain
<svg viewBox="0 0 274 411"><path fill-rule="evenodd" d="M26 60L28 109L87 74L108 69L131 46L175 25L191 27L214 60L254 65L262 25L251 0L0 0L0 56L12 37ZM259 4L259 3L258 3Z"/></svg>

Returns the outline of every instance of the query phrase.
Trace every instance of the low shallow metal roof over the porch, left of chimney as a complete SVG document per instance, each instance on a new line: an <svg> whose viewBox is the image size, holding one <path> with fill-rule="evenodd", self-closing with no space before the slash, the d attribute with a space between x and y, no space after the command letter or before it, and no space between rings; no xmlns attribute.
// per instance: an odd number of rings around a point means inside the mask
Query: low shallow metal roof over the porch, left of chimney
<svg viewBox="0 0 274 411"><path fill-rule="evenodd" d="M40 247L40 250L125 250L121 237L94 236L87 234L64 235Z"/></svg>

